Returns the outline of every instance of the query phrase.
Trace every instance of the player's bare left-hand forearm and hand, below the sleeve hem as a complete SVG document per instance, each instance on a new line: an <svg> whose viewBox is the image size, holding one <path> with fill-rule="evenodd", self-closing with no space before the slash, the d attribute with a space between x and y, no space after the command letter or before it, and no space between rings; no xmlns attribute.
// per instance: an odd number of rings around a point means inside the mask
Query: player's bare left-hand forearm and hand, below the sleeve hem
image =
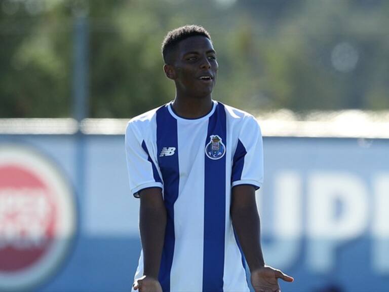
<svg viewBox="0 0 389 292"><path fill-rule="evenodd" d="M142 190L140 196L140 238L143 249L143 277L134 283L140 291L162 291L158 282L164 247L166 207L160 188Z"/></svg>

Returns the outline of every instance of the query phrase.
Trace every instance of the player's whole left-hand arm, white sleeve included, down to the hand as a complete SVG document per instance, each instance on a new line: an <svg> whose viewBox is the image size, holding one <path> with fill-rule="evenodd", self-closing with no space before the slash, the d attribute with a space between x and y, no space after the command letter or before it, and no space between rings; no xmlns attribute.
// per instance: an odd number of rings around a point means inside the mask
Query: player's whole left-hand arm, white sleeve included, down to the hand
<svg viewBox="0 0 389 292"><path fill-rule="evenodd" d="M135 279L133 288L140 292L162 292L158 274L166 228L163 182L158 164L152 159L152 145L147 146L142 129L136 123L130 122L127 126L125 146L131 193L140 198L139 229L143 249L143 276Z"/></svg>

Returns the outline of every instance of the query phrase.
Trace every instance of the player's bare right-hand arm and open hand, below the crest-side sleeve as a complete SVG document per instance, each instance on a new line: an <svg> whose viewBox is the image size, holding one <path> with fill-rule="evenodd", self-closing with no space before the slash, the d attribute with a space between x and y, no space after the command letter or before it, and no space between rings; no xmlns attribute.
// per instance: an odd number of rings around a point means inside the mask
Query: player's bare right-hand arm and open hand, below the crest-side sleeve
<svg viewBox="0 0 389 292"><path fill-rule="evenodd" d="M232 226L234 226L250 268L251 283L255 291L280 291L278 278L292 282L292 277L265 265L260 244L260 220L253 186L238 185L232 188L230 214Z"/></svg>

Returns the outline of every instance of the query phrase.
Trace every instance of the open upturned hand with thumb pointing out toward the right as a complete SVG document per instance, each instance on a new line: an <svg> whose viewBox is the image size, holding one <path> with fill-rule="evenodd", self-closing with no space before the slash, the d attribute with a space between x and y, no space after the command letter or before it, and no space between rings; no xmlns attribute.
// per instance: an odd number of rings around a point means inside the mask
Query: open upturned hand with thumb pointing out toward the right
<svg viewBox="0 0 389 292"><path fill-rule="evenodd" d="M281 292L277 279L293 282L293 278L280 270L264 266L251 272L251 284L255 292Z"/></svg>

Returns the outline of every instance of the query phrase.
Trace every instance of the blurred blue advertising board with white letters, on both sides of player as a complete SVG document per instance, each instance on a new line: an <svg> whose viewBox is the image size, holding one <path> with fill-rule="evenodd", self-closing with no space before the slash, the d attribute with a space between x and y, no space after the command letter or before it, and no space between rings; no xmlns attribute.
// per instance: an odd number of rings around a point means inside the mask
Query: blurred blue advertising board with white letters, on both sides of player
<svg viewBox="0 0 389 292"><path fill-rule="evenodd" d="M264 137L262 247L295 278L283 291L389 290L388 149ZM0 290L128 291L140 241L127 180L123 135L1 135Z"/></svg>

